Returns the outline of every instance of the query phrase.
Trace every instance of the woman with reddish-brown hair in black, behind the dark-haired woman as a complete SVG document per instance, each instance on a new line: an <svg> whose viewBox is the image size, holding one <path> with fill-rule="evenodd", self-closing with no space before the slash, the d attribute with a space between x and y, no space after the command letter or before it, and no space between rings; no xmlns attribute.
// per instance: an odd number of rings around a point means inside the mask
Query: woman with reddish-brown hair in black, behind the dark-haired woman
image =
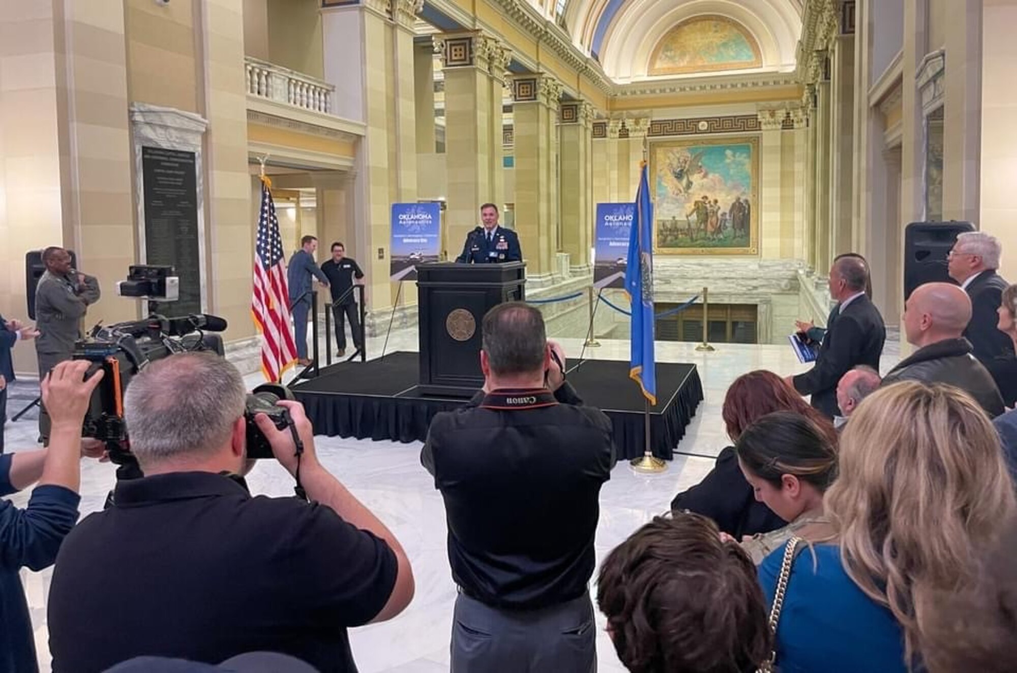
<svg viewBox="0 0 1017 673"><path fill-rule="evenodd" d="M734 379L724 397L721 416L731 441L760 418L773 412L794 412L814 422L830 446L837 445L837 432L830 419L805 403L777 374L762 369ZM757 533L769 533L786 522L756 500L738 468L733 446L717 456L714 469L691 489L671 501L671 509L687 509L716 522L717 527L735 540Z"/></svg>

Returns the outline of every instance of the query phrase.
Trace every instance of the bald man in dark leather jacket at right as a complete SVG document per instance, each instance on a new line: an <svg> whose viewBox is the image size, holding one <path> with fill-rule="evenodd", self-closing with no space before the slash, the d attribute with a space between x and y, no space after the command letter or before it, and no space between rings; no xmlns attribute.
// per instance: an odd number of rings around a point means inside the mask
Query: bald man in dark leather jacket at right
<svg viewBox="0 0 1017 673"><path fill-rule="evenodd" d="M1002 414L996 381L963 336L970 319L971 299L963 289L949 283L918 287L904 305L907 342L918 350L891 369L883 385L903 380L948 383L974 397L990 418Z"/></svg>

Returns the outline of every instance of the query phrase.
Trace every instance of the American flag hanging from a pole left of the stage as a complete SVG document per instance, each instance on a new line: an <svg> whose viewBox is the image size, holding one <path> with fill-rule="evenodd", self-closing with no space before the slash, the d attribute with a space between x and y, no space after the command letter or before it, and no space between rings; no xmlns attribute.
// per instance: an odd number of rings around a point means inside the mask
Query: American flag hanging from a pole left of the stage
<svg viewBox="0 0 1017 673"><path fill-rule="evenodd" d="M261 371L270 381L278 381L297 357L290 326L290 293L286 286L286 262L279 219L272 201L267 178L261 180L261 213L254 246L254 299L251 312L261 332Z"/></svg>

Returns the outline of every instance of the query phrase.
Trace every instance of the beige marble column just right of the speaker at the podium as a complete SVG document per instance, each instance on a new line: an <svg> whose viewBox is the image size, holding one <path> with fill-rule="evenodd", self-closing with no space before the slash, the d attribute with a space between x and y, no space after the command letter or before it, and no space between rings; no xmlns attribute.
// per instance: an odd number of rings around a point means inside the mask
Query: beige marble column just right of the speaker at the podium
<svg viewBox="0 0 1017 673"><path fill-rule="evenodd" d="M512 78L516 158L516 231L527 276L546 282L558 249L555 141L561 82L543 73Z"/></svg>

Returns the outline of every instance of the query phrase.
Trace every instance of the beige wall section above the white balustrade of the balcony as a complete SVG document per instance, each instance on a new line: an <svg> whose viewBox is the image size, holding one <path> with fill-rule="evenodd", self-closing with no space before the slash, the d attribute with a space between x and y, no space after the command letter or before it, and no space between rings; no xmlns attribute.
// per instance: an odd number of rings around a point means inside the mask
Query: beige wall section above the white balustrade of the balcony
<svg viewBox="0 0 1017 673"><path fill-rule="evenodd" d="M318 79L324 78L320 0L267 2L267 60Z"/></svg>

